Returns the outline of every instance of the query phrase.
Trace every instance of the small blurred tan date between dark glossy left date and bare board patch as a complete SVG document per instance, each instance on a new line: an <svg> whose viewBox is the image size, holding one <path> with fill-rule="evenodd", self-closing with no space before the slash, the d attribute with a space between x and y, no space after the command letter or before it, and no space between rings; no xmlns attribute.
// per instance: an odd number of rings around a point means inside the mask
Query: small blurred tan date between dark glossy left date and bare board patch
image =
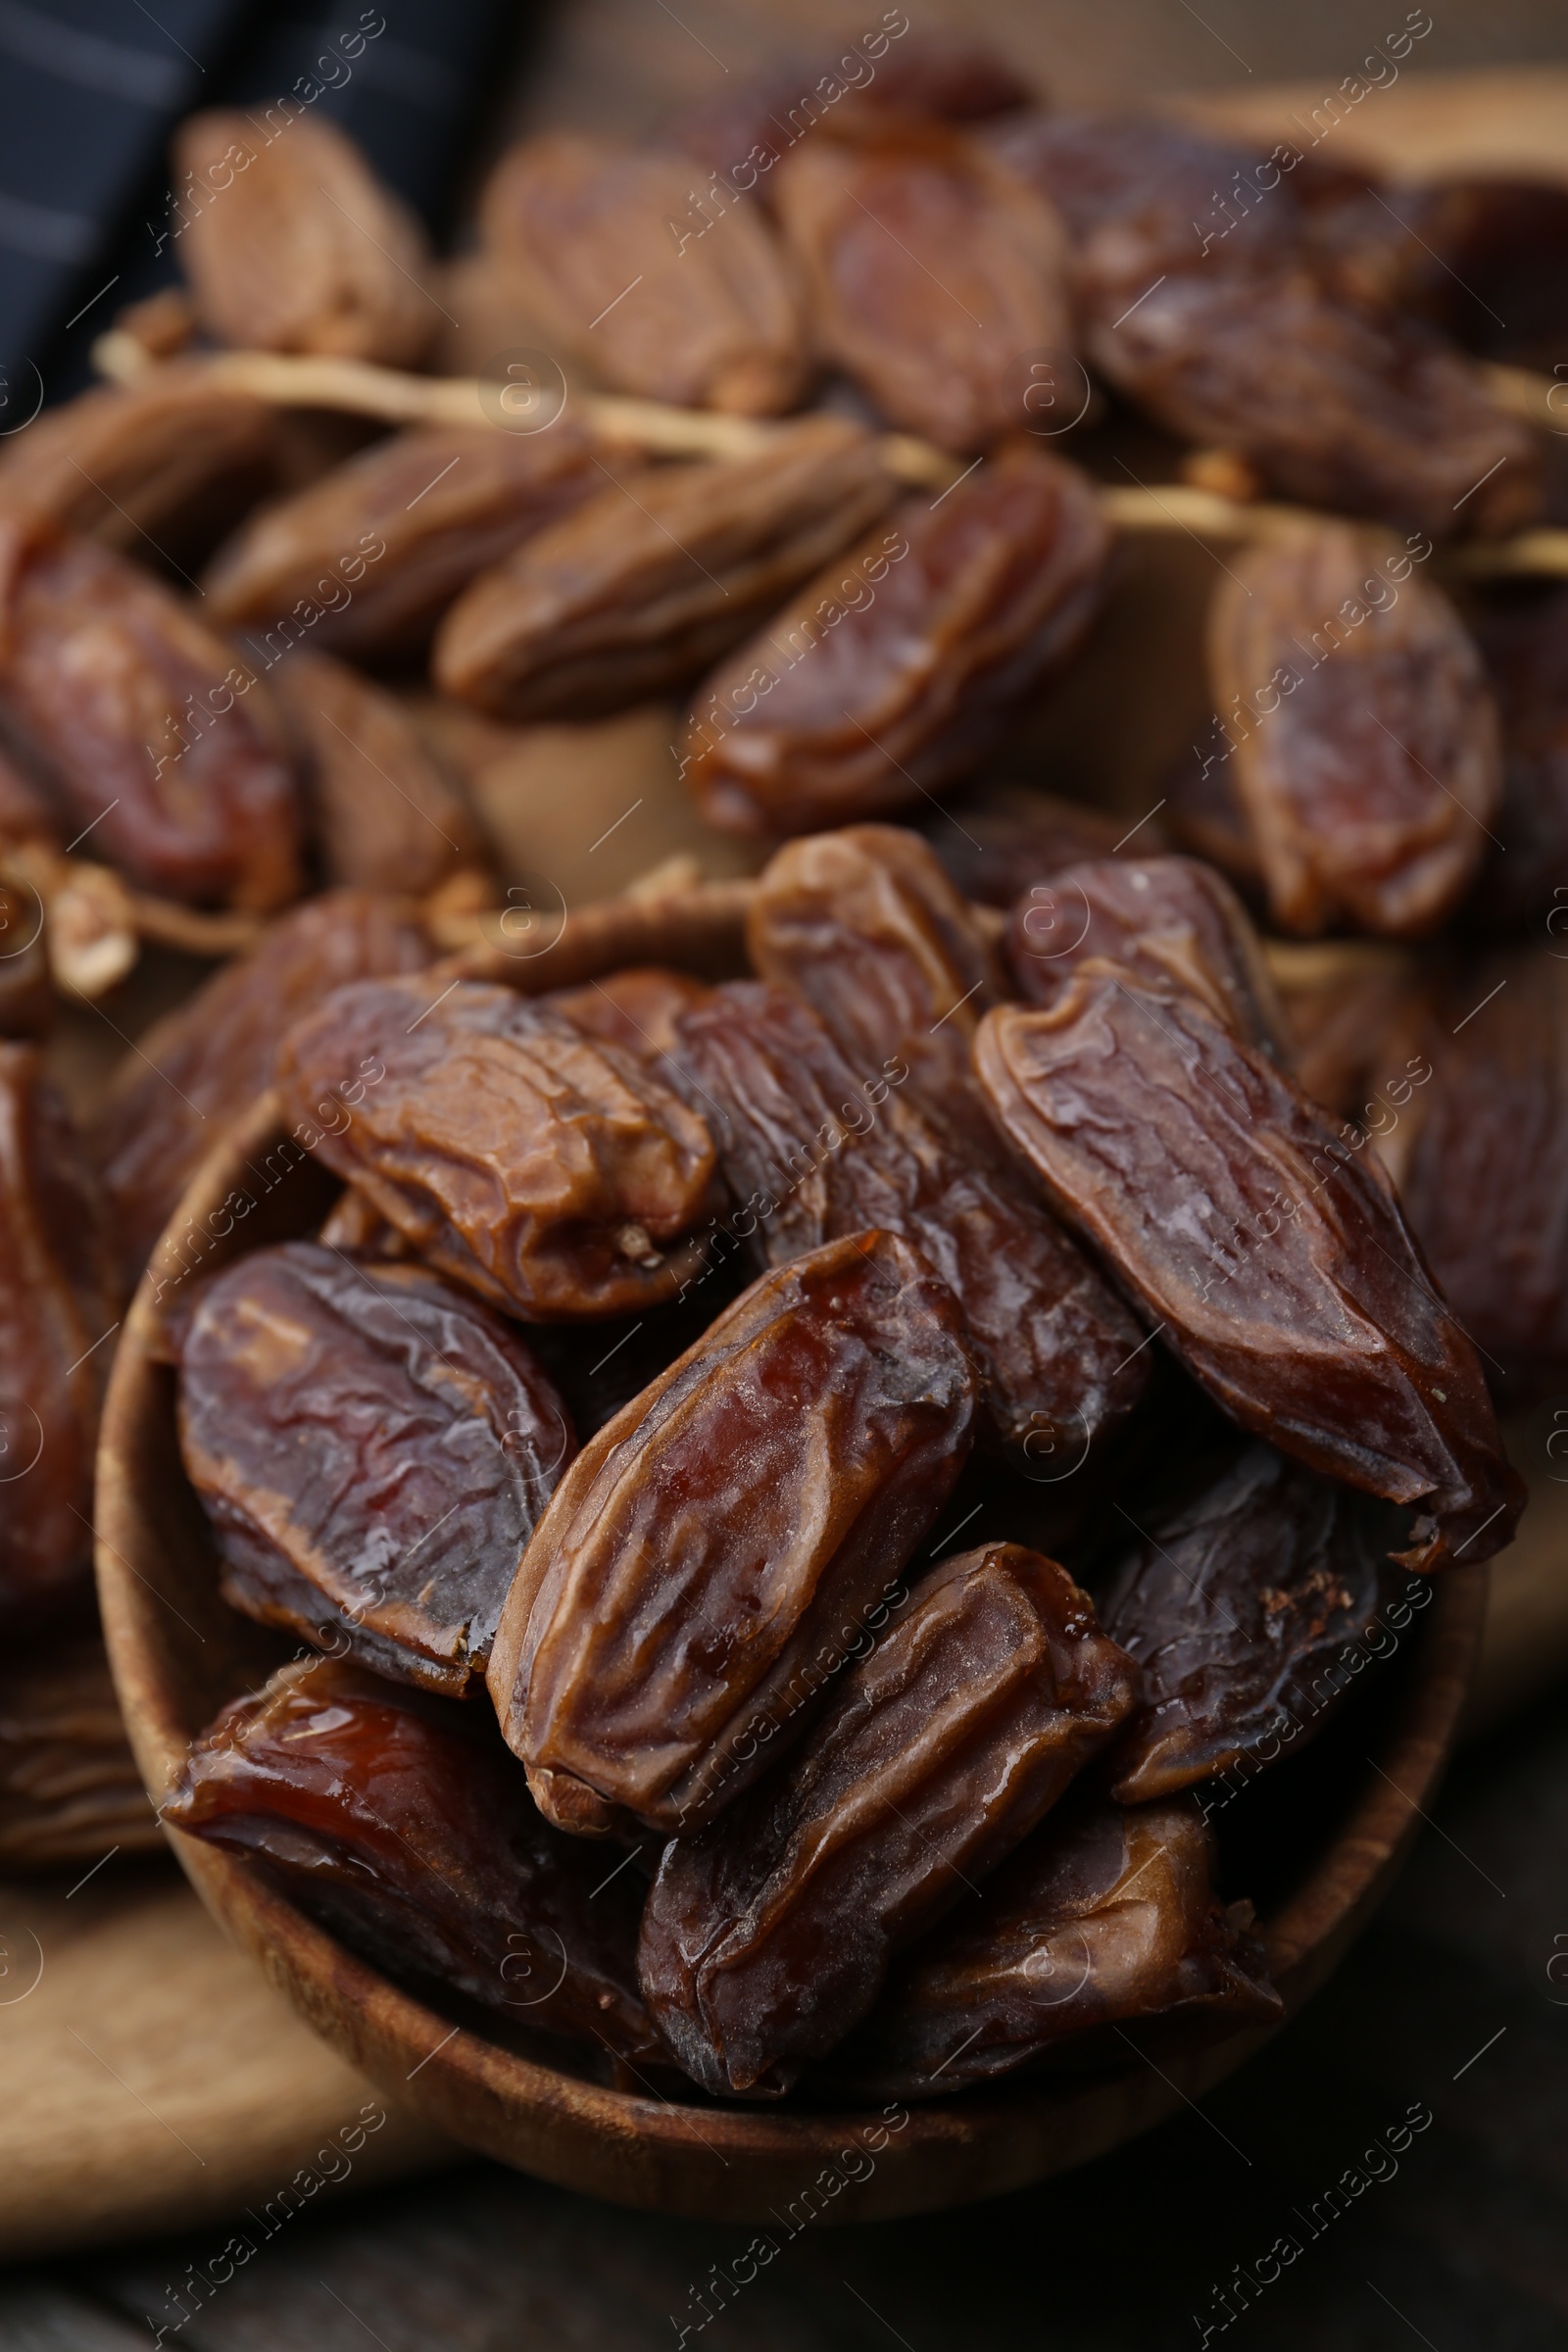
<svg viewBox="0 0 1568 2352"><path fill-rule="evenodd" d="M277 663L275 694L329 882L421 896L477 861L468 804L390 694L303 647Z"/></svg>

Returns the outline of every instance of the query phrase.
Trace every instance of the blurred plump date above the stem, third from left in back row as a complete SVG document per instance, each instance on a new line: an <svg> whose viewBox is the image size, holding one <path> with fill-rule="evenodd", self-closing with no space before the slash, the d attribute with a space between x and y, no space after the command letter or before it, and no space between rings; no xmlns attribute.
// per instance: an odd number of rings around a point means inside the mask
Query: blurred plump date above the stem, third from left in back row
<svg viewBox="0 0 1568 2352"><path fill-rule="evenodd" d="M771 188L811 336L896 426L985 449L1027 423L1030 362L1072 350L1056 212L954 132L806 141Z"/></svg>

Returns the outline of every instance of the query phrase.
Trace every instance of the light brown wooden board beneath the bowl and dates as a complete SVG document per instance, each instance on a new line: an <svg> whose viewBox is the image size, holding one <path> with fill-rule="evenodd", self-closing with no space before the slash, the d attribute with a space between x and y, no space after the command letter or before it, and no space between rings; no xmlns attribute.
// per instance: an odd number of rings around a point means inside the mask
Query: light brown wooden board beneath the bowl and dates
<svg viewBox="0 0 1568 2352"><path fill-rule="evenodd" d="M618 12L621 0L569 12L571 38L581 45L590 21L607 42ZM715 14L729 21L724 56L741 71L769 38L766 14L741 0L726 12L710 7L703 21ZM1006 42L1006 21L990 9L987 35ZM1027 14L1018 24L1018 56L1039 68ZM545 78L552 115L592 120L592 42L567 61L557 54ZM1293 136L1291 122L1312 115L1321 96L1316 85L1248 89L1182 101L1182 111L1274 141ZM1335 129L1335 153L1352 148L1410 172L1465 165L1554 169L1568 179L1568 71L1406 73ZM1093 663L1084 663L1065 699L1093 724L1074 724L1072 708L1063 720L1070 746L1063 769L1117 804L1135 797L1138 771L1150 771L1150 757L1135 757L1126 731L1135 729L1135 713L1124 715L1135 699L1117 682L1117 666L1128 659L1117 640L1126 635L1107 630L1107 675L1095 677ZM1150 663L1131 675L1150 680ZM1152 715L1164 682L1157 666ZM1164 708L1159 722L1168 724ZM1164 724L1150 731L1159 736ZM559 736L559 729L494 729L468 748L487 821L515 847L522 868L543 870L569 901L618 889L670 851L693 856L708 873L736 870L733 844L705 835L679 797L658 713L574 729L567 743ZM569 830L564 800L574 814ZM588 849L599 828L588 830L585 814L599 807L604 826L618 830ZM59 1058L73 1094L101 1082L122 1049L120 1030L141 1025L155 1009L153 995L172 985L179 981L169 969L150 971L143 1007L115 1007L113 1033L96 1014L68 1023ZM1554 1428L1547 1406L1514 1432L1535 1501L1521 1541L1493 1566L1476 1729L1568 1668L1568 1461L1547 1454ZM324 2173L343 2173L343 2154L322 2152L346 2150L357 2131L364 2138L346 2178L360 2185L456 2154L308 2032L223 1943L174 1863L127 1870L108 1860L75 1886L0 1884L0 2256L216 2223L244 2206L266 2211L292 2180L317 2194Z"/></svg>

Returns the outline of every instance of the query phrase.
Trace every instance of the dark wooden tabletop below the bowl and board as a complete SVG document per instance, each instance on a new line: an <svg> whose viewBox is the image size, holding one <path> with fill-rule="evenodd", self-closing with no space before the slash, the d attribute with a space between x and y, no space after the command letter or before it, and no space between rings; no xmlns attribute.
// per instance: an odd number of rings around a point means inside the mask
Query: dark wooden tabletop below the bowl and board
<svg viewBox="0 0 1568 2352"><path fill-rule="evenodd" d="M693 2293L712 2265L733 2272L750 2230L618 2213L473 2164L367 2199L324 2190L270 2241L252 2230L256 2256L167 2343L654 2352L691 2324L703 2352L1161 2352L1199 2345L1192 2314L1215 2319L1213 2288L1288 2232L1300 2258L1213 2345L1554 2352L1568 2343L1566 1858L1559 1696L1465 1755L1378 1924L1201 2112L964 2213L780 2225L776 2258L701 2333ZM1410 2107L1429 2129L1366 2157ZM1392 2164L1324 2223L1331 2183ZM846 2220L853 2194L837 2199ZM9 2272L2 2352L146 2347L179 2317L169 2291L226 2237Z"/></svg>

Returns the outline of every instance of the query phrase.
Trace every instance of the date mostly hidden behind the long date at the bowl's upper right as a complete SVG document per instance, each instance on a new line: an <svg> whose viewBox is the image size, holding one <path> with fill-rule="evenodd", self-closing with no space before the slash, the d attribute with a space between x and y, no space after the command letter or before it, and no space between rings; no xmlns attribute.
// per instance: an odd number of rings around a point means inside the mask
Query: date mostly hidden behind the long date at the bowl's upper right
<svg viewBox="0 0 1568 2352"><path fill-rule="evenodd" d="M1269 967L1229 882L1197 858L1098 858L1013 906L1009 962L1030 1004L1056 1004L1091 955L1178 988L1272 1061L1286 1058Z"/></svg>

